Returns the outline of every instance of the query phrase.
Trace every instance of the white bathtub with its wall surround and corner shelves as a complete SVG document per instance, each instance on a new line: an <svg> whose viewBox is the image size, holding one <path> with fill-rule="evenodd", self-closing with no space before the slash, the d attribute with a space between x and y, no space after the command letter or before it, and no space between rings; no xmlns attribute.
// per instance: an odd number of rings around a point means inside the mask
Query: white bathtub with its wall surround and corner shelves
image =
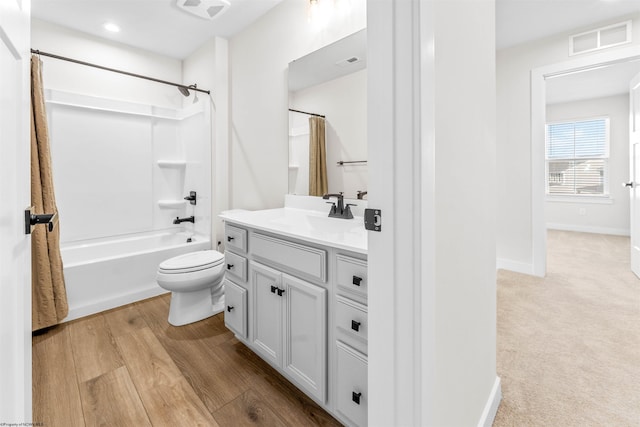
<svg viewBox="0 0 640 427"><path fill-rule="evenodd" d="M209 108L48 91L67 320L158 295L160 262L211 248Z"/></svg>

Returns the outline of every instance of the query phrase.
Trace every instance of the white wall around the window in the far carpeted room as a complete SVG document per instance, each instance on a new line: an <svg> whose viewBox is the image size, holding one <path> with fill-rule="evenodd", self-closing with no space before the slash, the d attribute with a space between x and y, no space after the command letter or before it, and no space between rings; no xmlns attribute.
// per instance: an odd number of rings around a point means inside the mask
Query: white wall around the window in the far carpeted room
<svg viewBox="0 0 640 427"><path fill-rule="evenodd" d="M547 105L547 122L608 116L610 203L565 200L545 203L547 228L629 235L629 96Z"/></svg>

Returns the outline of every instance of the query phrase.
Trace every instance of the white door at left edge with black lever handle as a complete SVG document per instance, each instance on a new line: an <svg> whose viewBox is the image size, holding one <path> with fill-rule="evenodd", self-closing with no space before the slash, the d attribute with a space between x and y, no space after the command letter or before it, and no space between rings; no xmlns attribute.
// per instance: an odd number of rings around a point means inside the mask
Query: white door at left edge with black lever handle
<svg viewBox="0 0 640 427"><path fill-rule="evenodd" d="M0 1L0 421L31 422L29 1Z"/></svg>

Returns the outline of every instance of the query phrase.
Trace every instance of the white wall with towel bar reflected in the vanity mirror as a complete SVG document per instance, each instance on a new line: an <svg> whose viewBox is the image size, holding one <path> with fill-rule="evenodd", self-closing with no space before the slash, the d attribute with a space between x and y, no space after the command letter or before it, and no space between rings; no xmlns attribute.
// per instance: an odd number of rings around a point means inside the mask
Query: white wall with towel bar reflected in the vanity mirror
<svg viewBox="0 0 640 427"><path fill-rule="evenodd" d="M367 70L361 70L331 81L291 93L291 108L326 116L327 175L329 193L344 192L345 197L356 198L358 190L367 190L367 164L338 166L337 162L367 160ZM309 116L291 113L303 124ZM295 123L298 123L297 121ZM295 126L294 123L294 126ZM309 145L308 135L297 138L296 144ZM293 147L291 147L293 148ZM302 148L302 147L300 147ZM304 153L304 150L296 152ZM300 166L298 179L306 171L306 193L295 192L295 182L289 182L289 192L308 194L308 148L306 158L302 156L294 163ZM306 162L307 168L303 167ZM290 173L296 173L291 170ZM304 181L304 179L303 179ZM304 187L302 187L304 188ZM300 188L299 188L300 190Z"/></svg>

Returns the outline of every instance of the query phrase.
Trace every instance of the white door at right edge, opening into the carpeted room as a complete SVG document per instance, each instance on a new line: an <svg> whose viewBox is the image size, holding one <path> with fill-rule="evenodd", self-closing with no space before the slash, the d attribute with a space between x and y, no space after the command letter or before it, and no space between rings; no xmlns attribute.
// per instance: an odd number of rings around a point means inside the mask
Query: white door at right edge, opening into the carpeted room
<svg viewBox="0 0 640 427"><path fill-rule="evenodd" d="M640 74L629 86L629 171L631 192L631 270L640 277Z"/></svg>

